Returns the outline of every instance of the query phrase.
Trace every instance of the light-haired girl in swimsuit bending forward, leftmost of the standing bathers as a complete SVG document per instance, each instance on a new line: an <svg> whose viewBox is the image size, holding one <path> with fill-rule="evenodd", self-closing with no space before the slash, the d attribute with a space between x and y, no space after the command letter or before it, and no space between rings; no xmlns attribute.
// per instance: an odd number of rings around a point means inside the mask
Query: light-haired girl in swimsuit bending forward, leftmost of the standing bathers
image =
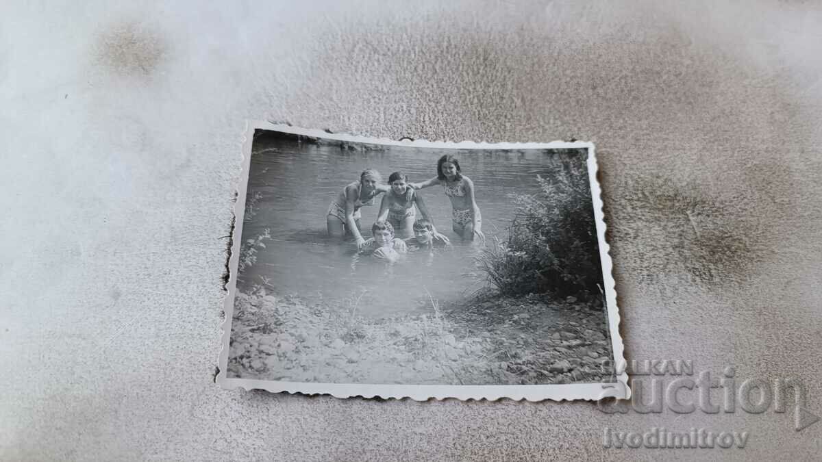
<svg viewBox="0 0 822 462"><path fill-rule="evenodd" d="M388 186L380 184L381 179L379 172L367 169L360 173L358 182L350 183L335 201L331 201L326 214L330 236L343 238L346 234L351 234L357 241L357 248L363 247L365 239L359 230L360 208L373 206L374 198L389 190Z"/></svg>

